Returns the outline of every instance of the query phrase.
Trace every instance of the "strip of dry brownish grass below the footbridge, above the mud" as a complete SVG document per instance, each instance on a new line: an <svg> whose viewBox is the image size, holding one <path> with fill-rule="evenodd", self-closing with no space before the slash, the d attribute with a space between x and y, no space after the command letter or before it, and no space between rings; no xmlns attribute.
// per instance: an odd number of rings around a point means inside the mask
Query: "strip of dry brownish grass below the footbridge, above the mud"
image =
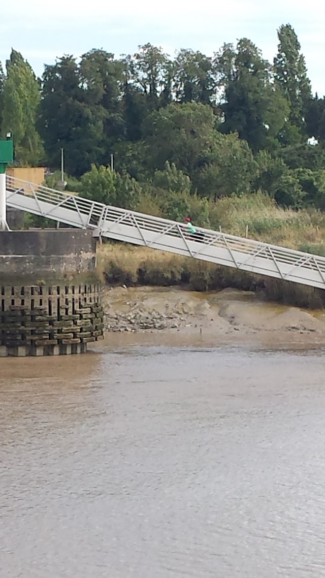
<svg viewBox="0 0 325 578"><path fill-rule="evenodd" d="M146 247L104 244L98 253L98 270L111 285L184 285L194 291L233 287L298 307L322 309L325 305L325 291L319 289Z"/></svg>

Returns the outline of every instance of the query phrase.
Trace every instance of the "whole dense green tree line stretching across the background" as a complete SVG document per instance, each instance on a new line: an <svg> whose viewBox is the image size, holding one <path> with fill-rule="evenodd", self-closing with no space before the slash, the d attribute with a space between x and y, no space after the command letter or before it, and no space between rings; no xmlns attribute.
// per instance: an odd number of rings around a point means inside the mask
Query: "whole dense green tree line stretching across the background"
<svg viewBox="0 0 325 578"><path fill-rule="evenodd" d="M150 44L120 58L90 50L46 65L42 79L12 50L0 68L1 132L12 131L21 165L55 170L62 147L69 187L103 202L156 203L178 218L261 190L325 209L325 100L312 95L291 25L278 42L272 63L246 38L213 57L171 58Z"/></svg>

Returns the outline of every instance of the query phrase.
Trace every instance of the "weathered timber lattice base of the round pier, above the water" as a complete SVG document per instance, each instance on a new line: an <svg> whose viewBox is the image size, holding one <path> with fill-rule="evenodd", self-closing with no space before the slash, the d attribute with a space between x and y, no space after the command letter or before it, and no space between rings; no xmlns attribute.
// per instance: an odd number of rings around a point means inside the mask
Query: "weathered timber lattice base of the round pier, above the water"
<svg viewBox="0 0 325 578"><path fill-rule="evenodd" d="M0 286L0 357L84 353L103 339L101 287Z"/></svg>

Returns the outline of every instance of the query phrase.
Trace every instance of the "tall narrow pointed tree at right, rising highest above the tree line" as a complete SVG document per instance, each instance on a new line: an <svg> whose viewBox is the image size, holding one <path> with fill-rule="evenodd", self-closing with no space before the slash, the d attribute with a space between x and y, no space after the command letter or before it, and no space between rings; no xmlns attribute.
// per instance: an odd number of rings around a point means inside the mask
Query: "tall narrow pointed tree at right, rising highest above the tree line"
<svg viewBox="0 0 325 578"><path fill-rule="evenodd" d="M290 24L278 30L278 54L274 58L275 79L290 104L289 121L305 133L304 110L311 98L311 83L307 76L304 55L296 32Z"/></svg>

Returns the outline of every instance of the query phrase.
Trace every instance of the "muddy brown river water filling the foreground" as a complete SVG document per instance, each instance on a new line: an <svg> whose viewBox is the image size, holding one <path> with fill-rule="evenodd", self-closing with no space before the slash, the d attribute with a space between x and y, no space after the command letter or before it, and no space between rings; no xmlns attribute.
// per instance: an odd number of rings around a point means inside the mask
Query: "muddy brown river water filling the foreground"
<svg viewBox="0 0 325 578"><path fill-rule="evenodd" d="M325 576L325 349L0 360L1 578Z"/></svg>

